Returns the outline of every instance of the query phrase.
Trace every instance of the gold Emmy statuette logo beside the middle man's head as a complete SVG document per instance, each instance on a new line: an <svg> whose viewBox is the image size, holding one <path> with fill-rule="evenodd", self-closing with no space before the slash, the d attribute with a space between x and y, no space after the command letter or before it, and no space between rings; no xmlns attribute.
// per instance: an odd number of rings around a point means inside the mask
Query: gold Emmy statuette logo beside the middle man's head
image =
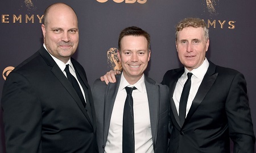
<svg viewBox="0 0 256 153"><path fill-rule="evenodd" d="M122 71L122 65L121 61L119 61L117 56L117 48L110 48L108 50L107 56L108 56L108 64L114 71Z"/></svg>

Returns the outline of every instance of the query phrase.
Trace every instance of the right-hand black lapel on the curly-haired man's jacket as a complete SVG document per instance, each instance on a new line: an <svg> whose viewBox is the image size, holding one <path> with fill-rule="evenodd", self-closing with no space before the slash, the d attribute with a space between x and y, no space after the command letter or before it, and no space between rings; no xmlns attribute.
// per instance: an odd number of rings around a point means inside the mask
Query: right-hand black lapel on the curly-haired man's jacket
<svg viewBox="0 0 256 153"><path fill-rule="evenodd" d="M201 85L199 86L199 89L188 111L187 118L185 119L184 124L188 122L188 120L192 117L193 113L195 113L197 107L204 100L204 97L207 95L214 81L216 80L218 73L215 73L215 68L216 65L209 61L209 68L203 78L203 81L201 82Z"/></svg>

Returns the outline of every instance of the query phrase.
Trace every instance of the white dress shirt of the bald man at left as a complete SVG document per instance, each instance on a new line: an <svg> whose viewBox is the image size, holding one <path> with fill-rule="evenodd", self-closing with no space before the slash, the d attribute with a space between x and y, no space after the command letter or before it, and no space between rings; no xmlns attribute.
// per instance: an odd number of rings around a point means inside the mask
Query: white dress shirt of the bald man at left
<svg viewBox="0 0 256 153"><path fill-rule="evenodd" d="M47 48L46 48L46 45L43 44L44 48L46 49L47 51ZM48 52L48 51L47 51ZM48 52L49 53L49 52ZM49 55L51 55L51 53L49 53ZM51 55L52 56L52 55ZM75 78L76 78L76 81L79 83L79 86L80 86L80 89L82 91L82 96L84 96L84 100L86 102L86 99L85 99L85 94L84 94L84 89L82 89L82 86L79 82L79 80L77 79L76 77L76 72L75 72L75 68L73 67L73 64L71 63L71 60L69 58L68 62L67 63L63 63L63 61L57 59L56 57L52 56L52 59L56 62L56 64L59 66L59 68L61 69L61 71L64 73L64 75L67 77L67 74L66 72L64 71L64 69L66 68L66 65L69 64L69 72L71 73L71 75L73 75Z"/></svg>

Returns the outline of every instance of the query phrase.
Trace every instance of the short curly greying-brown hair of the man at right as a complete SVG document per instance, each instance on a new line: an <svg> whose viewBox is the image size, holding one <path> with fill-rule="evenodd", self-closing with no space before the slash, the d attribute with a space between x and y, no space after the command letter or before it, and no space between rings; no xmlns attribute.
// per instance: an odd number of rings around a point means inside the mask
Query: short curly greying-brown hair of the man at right
<svg viewBox="0 0 256 153"><path fill-rule="evenodd" d="M183 30L183 28L186 28L186 27L194 27L194 28L202 27L204 29L205 39L206 40L209 39L209 29L207 28L207 24L204 22L204 20L200 18L185 18L176 25L176 34L175 34L176 41L177 41L177 32Z"/></svg>

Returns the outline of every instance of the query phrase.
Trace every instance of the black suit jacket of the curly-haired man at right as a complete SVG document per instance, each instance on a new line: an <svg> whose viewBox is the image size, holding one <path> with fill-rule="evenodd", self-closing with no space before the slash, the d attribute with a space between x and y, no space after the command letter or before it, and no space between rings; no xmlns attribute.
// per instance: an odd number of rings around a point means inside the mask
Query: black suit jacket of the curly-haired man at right
<svg viewBox="0 0 256 153"><path fill-rule="evenodd" d="M183 126L172 95L184 68L172 69L164 75L162 84L170 86L171 96L168 152L228 153L231 138L234 152L253 153L255 137L245 78L233 69L209 63Z"/></svg>

